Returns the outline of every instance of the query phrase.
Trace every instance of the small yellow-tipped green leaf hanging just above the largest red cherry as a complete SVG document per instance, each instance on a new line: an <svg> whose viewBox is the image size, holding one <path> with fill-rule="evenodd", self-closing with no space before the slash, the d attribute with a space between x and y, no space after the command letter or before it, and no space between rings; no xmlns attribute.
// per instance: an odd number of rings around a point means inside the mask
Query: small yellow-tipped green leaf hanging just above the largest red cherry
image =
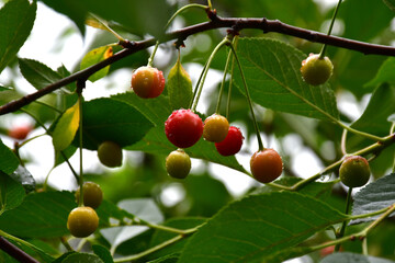
<svg viewBox="0 0 395 263"><path fill-rule="evenodd" d="M172 110L189 107L192 100L192 81L181 65L180 56L176 65L170 69L167 88Z"/></svg>

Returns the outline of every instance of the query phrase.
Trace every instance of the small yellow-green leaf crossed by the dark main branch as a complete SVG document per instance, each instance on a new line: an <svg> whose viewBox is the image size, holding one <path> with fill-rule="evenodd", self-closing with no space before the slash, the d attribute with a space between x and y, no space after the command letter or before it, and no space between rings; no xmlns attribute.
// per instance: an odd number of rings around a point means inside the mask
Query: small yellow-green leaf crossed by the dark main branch
<svg viewBox="0 0 395 263"><path fill-rule="evenodd" d="M86 69L90 66L93 66L104 59L111 57L113 55L113 50L111 46L102 46L90 50L83 58L80 65L80 69ZM101 70L97 71L95 73L89 77L89 80L94 82L109 73L110 66L102 68Z"/></svg>

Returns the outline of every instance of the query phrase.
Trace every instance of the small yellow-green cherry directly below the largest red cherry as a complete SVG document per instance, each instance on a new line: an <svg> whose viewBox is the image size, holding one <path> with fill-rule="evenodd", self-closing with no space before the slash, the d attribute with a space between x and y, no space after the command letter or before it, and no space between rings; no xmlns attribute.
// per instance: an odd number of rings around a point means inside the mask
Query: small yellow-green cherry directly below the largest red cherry
<svg viewBox="0 0 395 263"><path fill-rule="evenodd" d="M174 150L166 158L166 170L172 178L184 179L191 171L191 158L182 149Z"/></svg>

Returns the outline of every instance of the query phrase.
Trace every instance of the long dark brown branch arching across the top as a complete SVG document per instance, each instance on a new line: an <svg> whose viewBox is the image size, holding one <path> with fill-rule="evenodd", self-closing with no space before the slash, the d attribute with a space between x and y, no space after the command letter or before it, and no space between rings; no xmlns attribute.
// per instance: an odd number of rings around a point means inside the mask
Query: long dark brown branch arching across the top
<svg viewBox="0 0 395 263"><path fill-rule="evenodd" d="M267 19L235 19L235 18L219 18L214 15L211 18L212 20L205 23L195 24L192 26L188 26L178 31L173 31L167 33L159 39L160 43L169 42L169 41L184 41L190 35L194 35L201 32L215 30L215 28L232 28L234 31L240 31L244 28L256 28L261 30L264 33L268 32L276 32L284 35L295 36L298 38L303 38L309 42L327 44L330 46L341 47L350 50L357 50L363 53L365 55L384 55L384 56L395 56L395 48L383 45L375 45L370 43L363 43L358 41L352 41L348 38L329 36L323 33L304 30L301 27L292 26L285 23L282 23L278 20L267 20ZM146 49L150 46L154 46L157 39L149 38L140 42L126 42L121 43L125 49L119 52L114 56L95 64L87 69L78 71L67 78L64 78L50 85L45 87L34 93L25 95L21 99L12 101L8 104L0 106L0 115L15 112L19 108L30 104L31 102L60 89L74 81L77 80L87 80L91 75L99 71L100 69L114 64L115 61L127 57L134 53L137 53L142 49Z"/></svg>

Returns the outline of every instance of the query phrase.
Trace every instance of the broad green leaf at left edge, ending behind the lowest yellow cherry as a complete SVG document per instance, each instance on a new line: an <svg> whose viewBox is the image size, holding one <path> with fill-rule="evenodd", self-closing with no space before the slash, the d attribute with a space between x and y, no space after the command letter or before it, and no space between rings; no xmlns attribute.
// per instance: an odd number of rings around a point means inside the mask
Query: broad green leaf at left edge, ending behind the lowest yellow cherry
<svg viewBox="0 0 395 263"><path fill-rule="evenodd" d="M32 193L20 206L1 215L1 230L24 238L63 237L69 233L67 217L76 206L70 192Z"/></svg>

